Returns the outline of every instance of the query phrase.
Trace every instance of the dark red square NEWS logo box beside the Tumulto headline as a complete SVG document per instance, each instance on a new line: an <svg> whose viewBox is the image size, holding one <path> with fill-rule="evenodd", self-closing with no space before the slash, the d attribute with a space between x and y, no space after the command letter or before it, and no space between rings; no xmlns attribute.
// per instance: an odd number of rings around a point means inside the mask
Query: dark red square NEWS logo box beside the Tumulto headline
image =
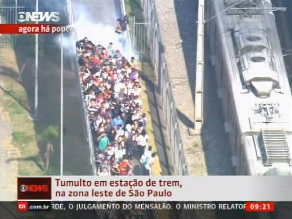
<svg viewBox="0 0 292 219"><path fill-rule="evenodd" d="M18 178L18 199L51 199L51 178Z"/></svg>

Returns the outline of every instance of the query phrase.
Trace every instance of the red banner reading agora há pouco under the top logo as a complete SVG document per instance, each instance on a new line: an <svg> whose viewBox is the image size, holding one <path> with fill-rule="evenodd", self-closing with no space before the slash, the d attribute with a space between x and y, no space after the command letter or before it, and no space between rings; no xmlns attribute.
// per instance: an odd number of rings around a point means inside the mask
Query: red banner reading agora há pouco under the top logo
<svg viewBox="0 0 292 219"><path fill-rule="evenodd" d="M56 24L0 24L0 34L60 34L74 28Z"/></svg>

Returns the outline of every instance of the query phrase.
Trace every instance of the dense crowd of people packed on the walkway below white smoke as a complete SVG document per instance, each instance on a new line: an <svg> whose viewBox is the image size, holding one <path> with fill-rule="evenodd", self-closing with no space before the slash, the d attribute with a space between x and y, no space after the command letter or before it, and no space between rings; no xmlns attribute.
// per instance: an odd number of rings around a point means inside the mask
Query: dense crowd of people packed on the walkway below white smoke
<svg viewBox="0 0 292 219"><path fill-rule="evenodd" d="M132 175L133 154L144 174L151 174L156 154L148 145L135 58L127 60L113 43L95 45L86 37L76 47L98 175Z"/></svg>

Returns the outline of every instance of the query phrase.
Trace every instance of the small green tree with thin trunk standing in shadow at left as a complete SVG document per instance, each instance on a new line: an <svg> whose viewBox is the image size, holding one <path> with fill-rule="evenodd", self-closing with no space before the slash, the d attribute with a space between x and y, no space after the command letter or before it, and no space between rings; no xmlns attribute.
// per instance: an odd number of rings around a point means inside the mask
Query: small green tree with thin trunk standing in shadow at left
<svg viewBox="0 0 292 219"><path fill-rule="evenodd" d="M39 135L39 141L46 142L46 152L44 154L45 158L45 167L46 170L49 169L51 155L54 153L54 147L52 141L58 139L60 134L60 128L57 125L48 126L44 131Z"/></svg>

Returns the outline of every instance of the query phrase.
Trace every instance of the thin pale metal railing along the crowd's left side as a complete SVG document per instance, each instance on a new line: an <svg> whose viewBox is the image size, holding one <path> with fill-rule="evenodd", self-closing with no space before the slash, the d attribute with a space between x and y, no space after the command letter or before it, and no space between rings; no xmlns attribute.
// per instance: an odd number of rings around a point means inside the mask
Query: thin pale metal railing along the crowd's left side
<svg viewBox="0 0 292 219"><path fill-rule="evenodd" d="M73 25L74 23L74 14L73 14L73 6L71 0L66 0L67 1L67 12L68 12L68 19L69 19L69 25ZM76 32L73 33L73 41L72 41L72 46L75 48L75 42L77 42L77 35ZM75 50L76 51L76 50ZM77 59L77 53L76 53L76 62L75 62L75 67L78 69L78 59ZM77 72L79 75L79 72ZM78 76L79 77L79 76ZM81 92L81 101L83 103L83 112L85 116L85 121L86 121L86 129L87 129L87 141L88 141L88 147L90 149L90 162L91 162L91 167L92 167L92 172L93 175L97 175L98 171L95 166L94 162L94 145L93 145L93 138L92 138L92 133L91 133L91 126L90 126L90 121L89 121L89 116L87 114L87 107L85 105L84 99L83 99L83 91L80 87L80 92Z"/></svg>

